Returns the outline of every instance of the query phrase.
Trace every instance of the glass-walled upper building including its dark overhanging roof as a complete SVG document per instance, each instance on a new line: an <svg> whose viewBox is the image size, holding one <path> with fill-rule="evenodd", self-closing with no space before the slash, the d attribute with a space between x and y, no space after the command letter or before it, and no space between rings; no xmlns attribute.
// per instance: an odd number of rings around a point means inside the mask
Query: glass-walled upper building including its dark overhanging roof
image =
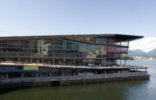
<svg viewBox="0 0 156 100"><path fill-rule="evenodd" d="M0 37L0 61L55 65L117 65L129 41L142 36L122 34Z"/></svg>

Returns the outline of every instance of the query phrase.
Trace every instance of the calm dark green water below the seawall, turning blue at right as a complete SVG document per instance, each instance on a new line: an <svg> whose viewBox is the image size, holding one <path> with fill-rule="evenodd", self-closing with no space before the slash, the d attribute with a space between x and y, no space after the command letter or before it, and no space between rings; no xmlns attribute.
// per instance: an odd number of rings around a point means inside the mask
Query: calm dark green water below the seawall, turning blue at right
<svg viewBox="0 0 156 100"><path fill-rule="evenodd" d="M156 100L156 61L128 61L128 64L148 65L150 80L30 88L0 94L0 100Z"/></svg>

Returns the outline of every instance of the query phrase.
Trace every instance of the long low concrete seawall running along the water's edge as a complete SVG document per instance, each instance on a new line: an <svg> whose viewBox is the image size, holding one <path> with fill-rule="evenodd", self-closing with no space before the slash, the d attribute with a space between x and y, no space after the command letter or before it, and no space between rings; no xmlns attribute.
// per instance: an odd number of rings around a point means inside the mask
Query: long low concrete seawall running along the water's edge
<svg viewBox="0 0 156 100"><path fill-rule="evenodd" d="M99 75L83 76L58 76L58 77L31 77L31 78L12 78L0 80L0 92L30 88L30 87L51 87L66 86L76 84L94 84L111 81L141 80L149 79L150 75L146 72L127 72L111 73Z"/></svg>

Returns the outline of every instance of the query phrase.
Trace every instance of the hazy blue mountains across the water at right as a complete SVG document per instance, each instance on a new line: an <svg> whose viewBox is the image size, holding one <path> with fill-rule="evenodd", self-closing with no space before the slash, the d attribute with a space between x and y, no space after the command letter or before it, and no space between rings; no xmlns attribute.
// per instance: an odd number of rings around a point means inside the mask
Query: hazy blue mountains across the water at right
<svg viewBox="0 0 156 100"><path fill-rule="evenodd" d="M142 50L130 50L128 52L129 56L141 56L141 57L156 57L156 49L150 52L144 52Z"/></svg>

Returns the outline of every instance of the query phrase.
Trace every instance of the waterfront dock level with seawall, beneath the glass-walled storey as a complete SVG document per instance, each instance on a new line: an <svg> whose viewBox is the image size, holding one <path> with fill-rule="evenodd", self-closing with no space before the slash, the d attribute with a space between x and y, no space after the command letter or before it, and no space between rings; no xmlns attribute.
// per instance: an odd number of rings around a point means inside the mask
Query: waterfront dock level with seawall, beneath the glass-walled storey
<svg viewBox="0 0 156 100"><path fill-rule="evenodd" d="M7 66L13 67L12 65ZM21 67L25 65L17 66ZM150 78L147 68L143 66L89 67L40 65L38 69L35 72L19 71L17 72L19 74L18 77L11 78L9 78L9 74L12 72L7 72L7 70L6 72L0 72L5 73L5 77L0 79L0 92L28 87L69 86ZM26 76L27 74L30 76Z"/></svg>

